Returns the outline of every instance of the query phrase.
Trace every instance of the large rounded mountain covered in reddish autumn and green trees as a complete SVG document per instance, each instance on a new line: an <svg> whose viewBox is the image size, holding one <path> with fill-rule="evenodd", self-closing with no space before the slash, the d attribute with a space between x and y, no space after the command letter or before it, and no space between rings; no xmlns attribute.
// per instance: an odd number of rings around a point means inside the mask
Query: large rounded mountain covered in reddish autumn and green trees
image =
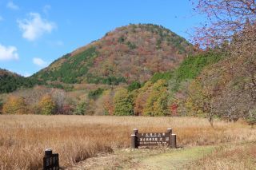
<svg viewBox="0 0 256 170"><path fill-rule="evenodd" d="M32 77L47 82L118 85L147 81L176 68L193 53L192 45L170 30L131 24L58 58Z"/></svg>

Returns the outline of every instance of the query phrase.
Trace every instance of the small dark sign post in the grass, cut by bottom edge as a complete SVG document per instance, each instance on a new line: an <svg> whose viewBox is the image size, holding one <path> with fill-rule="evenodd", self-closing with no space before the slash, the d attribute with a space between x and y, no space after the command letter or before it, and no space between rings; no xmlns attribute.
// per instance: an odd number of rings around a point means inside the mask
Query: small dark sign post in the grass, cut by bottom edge
<svg viewBox="0 0 256 170"><path fill-rule="evenodd" d="M58 153L53 154L50 149L46 149L43 157L43 170L58 170Z"/></svg>

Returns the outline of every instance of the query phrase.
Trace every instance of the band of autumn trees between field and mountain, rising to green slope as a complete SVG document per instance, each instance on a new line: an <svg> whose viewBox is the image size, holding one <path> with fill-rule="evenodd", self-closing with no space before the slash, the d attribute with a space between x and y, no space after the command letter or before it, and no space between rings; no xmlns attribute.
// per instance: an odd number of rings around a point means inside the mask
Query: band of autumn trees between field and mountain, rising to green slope
<svg viewBox="0 0 256 170"><path fill-rule="evenodd" d="M189 115L186 99L190 82L198 77L207 66L214 65L225 57L226 54L217 49L190 55L176 69L154 73L148 81L143 83L133 81L130 85L88 85L86 89L72 89L71 91L43 86L19 90L10 93L5 98L3 113ZM20 109L12 109L16 107Z"/></svg>

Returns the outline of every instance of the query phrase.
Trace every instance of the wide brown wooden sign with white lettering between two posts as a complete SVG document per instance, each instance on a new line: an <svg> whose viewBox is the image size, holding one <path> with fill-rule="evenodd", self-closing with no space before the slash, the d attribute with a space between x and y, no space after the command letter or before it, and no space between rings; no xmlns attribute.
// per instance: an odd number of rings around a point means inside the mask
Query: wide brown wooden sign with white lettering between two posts
<svg viewBox="0 0 256 170"><path fill-rule="evenodd" d="M138 132L134 128L131 135L131 148L166 146L176 148L176 135L172 134L172 129L167 128L166 132Z"/></svg>

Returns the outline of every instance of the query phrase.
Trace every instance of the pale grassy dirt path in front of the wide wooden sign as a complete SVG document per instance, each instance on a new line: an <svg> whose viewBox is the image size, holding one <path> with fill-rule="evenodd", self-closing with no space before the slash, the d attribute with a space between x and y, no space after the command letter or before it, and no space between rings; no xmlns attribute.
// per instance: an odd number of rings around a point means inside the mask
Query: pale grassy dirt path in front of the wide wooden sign
<svg viewBox="0 0 256 170"><path fill-rule="evenodd" d="M213 146L178 149L118 149L66 168L77 169L182 169L214 150Z"/></svg>

